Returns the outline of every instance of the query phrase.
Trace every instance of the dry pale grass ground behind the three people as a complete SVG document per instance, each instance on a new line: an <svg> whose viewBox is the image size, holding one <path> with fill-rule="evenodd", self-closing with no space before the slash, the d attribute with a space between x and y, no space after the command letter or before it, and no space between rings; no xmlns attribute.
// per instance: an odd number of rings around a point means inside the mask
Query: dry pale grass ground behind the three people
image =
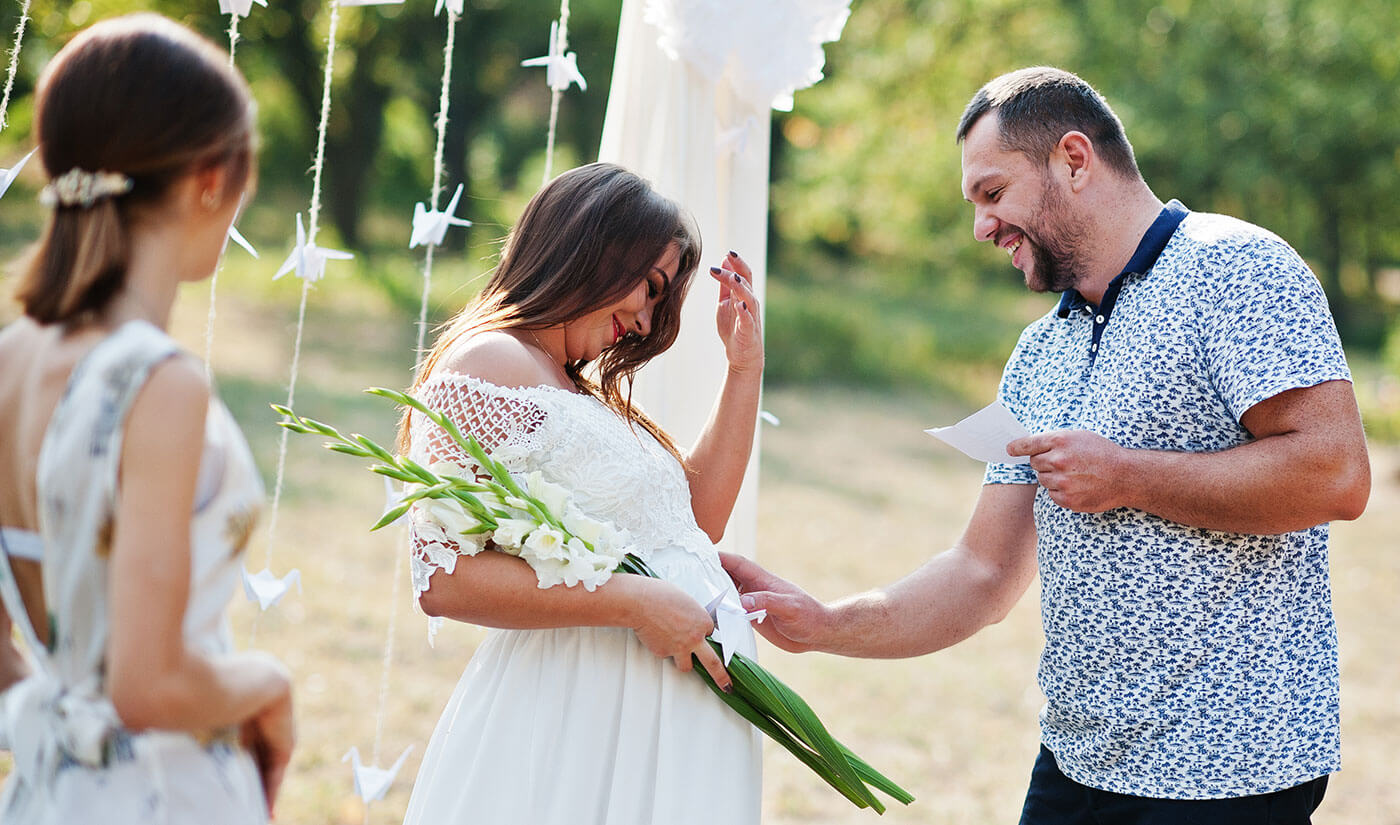
<svg viewBox="0 0 1400 825"><path fill-rule="evenodd" d="M218 387L253 445L269 489L280 430L267 402L286 399L298 284L234 289L218 298L213 364ZM337 291L340 290L340 291ZM207 286L190 284L174 332L203 352ZM363 396L370 385L409 380L414 331L368 291L316 287L297 388L297 409L388 440L392 416ZM948 546L977 494L981 465L920 430L967 412L963 401L822 388L771 391L781 420L763 434L759 559L819 597L885 584ZM1322 825L1400 824L1400 451L1376 447L1368 513L1334 525L1333 583L1341 633L1345 769L1316 817ZM349 765L356 745L391 763L414 747L399 780L368 821L398 822L437 716L483 632L449 625L437 646L409 598L398 528L367 532L384 506L381 483L318 440L288 444L276 529L267 520L249 549L258 570L302 571L304 591L255 615L241 597L234 635L280 656L297 679L300 745L279 821L356 824L365 818ZM392 630L392 632L391 632ZM386 644L392 668L384 677ZM806 696L833 733L910 789L918 800L888 822L1015 822L1037 744L1035 682L1037 598L974 639L909 661L760 657ZM382 717L378 709L382 706ZM0 773L7 765L0 761ZM717 789L720 791L722 789ZM869 822L776 747L766 751L766 824Z"/></svg>

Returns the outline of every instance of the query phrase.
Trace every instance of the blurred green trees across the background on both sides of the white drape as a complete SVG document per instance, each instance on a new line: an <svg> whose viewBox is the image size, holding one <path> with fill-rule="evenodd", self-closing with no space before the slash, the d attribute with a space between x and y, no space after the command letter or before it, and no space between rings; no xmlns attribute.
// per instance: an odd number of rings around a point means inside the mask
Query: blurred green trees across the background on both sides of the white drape
<svg viewBox="0 0 1400 825"><path fill-rule="evenodd" d="M276 258L309 196L328 11L322 0L270 6L242 21L237 56L262 125L260 192L241 226ZM556 169L596 155L620 8L571 6L570 48L589 87L564 99ZM83 25L136 8L227 43L216 0L35 3L0 161L28 146L29 92L48 56ZM539 185L549 90L519 62L545 53L557 10L556 0L468 0L459 22L445 186L466 183L461 213L476 226L448 237L470 272L490 268ZM18 3L0 7L6 55L17 13ZM431 0L340 14L326 219L335 242L360 255L358 276L406 312L417 294L407 227L431 182L444 27ZM857 0L827 48L827 78L774 119L771 380L986 392L1049 298L973 242L953 129L981 83L1036 63L1071 69L1107 97L1159 196L1252 220L1298 248L1355 357L1389 349L1400 360L1396 42L1394 0ZM7 256L36 233L24 192L35 182L27 175L0 203Z"/></svg>

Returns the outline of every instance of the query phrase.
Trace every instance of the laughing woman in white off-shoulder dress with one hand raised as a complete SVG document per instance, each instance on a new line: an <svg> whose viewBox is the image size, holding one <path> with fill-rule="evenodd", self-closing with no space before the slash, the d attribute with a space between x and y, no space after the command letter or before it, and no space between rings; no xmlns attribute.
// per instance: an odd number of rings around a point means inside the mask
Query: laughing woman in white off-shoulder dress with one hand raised
<svg viewBox="0 0 1400 825"><path fill-rule="evenodd" d="M526 206L490 283L424 361L417 398L512 472L539 471L627 531L661 578L542 590L521 559L459 555L416 520L423 609L494 630L438 721L406 822L757 822L759 734L686 672L694 654L729 684L701 605L735 595L714 541L753 444L763 371L736 255L710 270L729 368L694 448L682 454L627 401L633 373L675 340L699 247L641 178L608 164L566 172ZM424 416L407 434L423 464L469 464Z"/></svg>

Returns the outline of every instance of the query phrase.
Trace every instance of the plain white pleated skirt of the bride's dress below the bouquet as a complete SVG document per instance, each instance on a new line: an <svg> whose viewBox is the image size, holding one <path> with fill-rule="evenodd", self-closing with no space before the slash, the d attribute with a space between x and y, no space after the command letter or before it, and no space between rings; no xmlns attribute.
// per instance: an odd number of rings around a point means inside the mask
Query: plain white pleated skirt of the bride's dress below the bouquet
<svg viewBox="0 0 1400 825"><path fill-rule="evenodd" d="M406 825L756 825L760 734L631 630L493 630Z"/></svg>

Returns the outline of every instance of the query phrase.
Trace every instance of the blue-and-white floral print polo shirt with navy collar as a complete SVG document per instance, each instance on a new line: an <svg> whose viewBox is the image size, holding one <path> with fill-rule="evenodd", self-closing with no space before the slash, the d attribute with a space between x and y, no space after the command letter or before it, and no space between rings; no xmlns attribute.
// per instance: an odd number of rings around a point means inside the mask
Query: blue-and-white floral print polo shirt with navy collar
<svg viewBox="0 0 1400 825"><path fill-rule="evenodd" d="M1099 307L1077 293L1021 335L1000 399L1032 431L1205 452L1280 392L1351 380L1327 300L1277 235L1169 203ZM1036 483L990 464L986 483ZM1035 501L1042 740L1092 787L1270 793L1340 768L1327 525L1282 535Z"/></svg>

